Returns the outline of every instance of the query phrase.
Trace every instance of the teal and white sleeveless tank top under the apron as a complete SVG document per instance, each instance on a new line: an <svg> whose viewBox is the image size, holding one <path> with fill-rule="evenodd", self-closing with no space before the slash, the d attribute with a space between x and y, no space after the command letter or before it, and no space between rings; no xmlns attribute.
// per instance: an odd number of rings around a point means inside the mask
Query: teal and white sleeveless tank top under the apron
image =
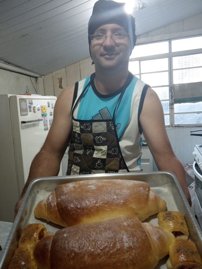
<svg viewBox="0 0 202 269"><path fill-rule="evenodd" d="M78 90L76 92L75 87L73 103L81 95L92 76L95 76L95 74L78 82ZM94 80L92 80L91 85L78 102L73 117L78 120L111 119L119 96L125 87L125 93L116 108L115 126L126 165L130 172L135 172L141 171L142 130L139 116L148 85L129 72L123 87L114 93L103 95L97 91Z"/></svg>

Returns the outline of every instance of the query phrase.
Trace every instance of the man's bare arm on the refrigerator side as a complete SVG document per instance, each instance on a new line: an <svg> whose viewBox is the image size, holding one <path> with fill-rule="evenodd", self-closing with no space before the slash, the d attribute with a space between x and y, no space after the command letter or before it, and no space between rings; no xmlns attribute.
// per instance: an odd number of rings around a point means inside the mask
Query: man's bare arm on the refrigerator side
<svg viewBox="0 0 202 269"><path fill-rule="evenodd" d="M51 128L44 145L31 163L29 176L23 188L21 199L15 206L15 213L18 212L22 198L32 179L44 176L57 176L59 173L61 159L68 146L72 126L71 107L73 93L74 85L68 86L57 98Z"/></svg>

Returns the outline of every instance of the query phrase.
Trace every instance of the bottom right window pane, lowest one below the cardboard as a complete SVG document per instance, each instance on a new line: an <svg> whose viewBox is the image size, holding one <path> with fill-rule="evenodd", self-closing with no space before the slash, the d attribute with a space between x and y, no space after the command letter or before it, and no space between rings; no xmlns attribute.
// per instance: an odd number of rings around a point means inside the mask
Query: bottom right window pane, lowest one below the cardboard
<svg viewBox="0 0 202 269"><path fill-rule="evenodd" d="M175 124L201 124L202 113L175 114Z"/></svg>

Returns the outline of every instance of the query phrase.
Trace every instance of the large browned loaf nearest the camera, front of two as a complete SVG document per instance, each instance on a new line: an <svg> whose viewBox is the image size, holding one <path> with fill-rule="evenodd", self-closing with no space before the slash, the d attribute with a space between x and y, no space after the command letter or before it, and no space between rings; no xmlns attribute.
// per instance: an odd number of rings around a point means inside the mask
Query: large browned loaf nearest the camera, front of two
<svg viewBox="0 0 202 269"><path fill-rule="evenodd" d="M46 236L36 245L34 259L39 269L153 269L169 253L173 240L161 227L121 216Z"/></svg>

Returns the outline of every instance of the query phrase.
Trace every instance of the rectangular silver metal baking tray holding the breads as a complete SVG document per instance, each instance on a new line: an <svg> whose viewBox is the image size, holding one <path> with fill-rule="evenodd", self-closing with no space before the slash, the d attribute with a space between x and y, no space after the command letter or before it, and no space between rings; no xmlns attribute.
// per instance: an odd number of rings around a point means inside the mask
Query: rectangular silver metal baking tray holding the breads
<svg viewBox="0 0 202 269"><path fill-rule="evenodd" d="M23 202L20 206L16 219L11 228L8 239L5 243L3 253L1 255L0 268L8 268L9 262L12 259L14 251L17 248L18 240L25 226L28 223L43 223L47 231L56 232L61 229L61 226L48 223L43 220L35 219L33 210L36 204L46 198L57 185L70 183L79 180L89 179L127 179L139 180L149 184L149 186L167 202L167 210L179 211L184 216L191 240L196 244L199 253L202 257L202 231L201 228L190 211L190 206L186 197L177 181L175 174L168 171L163 172L130 172L130 173L111 173L111 174L91 174L91 175L76 175L76 176L57 176L36 178L31 181ZM158 225L157 214L149 217L147 220L154 225ZM166 269L166 261L168 257L160 260L155 269Z"/></svg>

